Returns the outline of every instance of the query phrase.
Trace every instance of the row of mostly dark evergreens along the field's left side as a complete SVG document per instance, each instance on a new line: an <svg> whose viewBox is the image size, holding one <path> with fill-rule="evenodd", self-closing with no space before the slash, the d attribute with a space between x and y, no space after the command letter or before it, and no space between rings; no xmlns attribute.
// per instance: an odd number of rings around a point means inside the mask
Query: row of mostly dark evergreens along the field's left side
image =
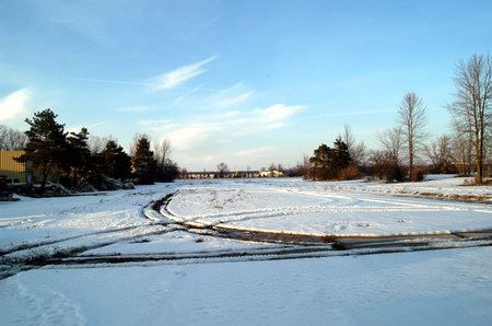
<svg viewBox="0 0 492 326"><path fill-rule="evenodd" d="M74 187L81 178L97 185L103 175L152 184L174 181L179 174L177 164L169 159L168 141L156 143L154 152L151 151L149 137L137 135L130 156L115 139L93 138L90 142L86 128L79 132L66 132L65 125L57 123L56 118L57 115L49 108L35 113L33 119L25 119L30 129L24 132L24 142L10 148L24 150L17 160L33 163L33 168L42 178L42 194L52 174L61 175L66 183L69 181L69 185Z"/></svg>

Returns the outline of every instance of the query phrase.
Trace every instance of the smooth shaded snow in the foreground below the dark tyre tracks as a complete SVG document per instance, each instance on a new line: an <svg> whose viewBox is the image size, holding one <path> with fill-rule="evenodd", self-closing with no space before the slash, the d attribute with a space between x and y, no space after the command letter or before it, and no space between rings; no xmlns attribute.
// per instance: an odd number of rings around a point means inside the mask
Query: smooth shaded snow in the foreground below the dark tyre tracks
<svg viewBox="0 0 492 326"><path fill-rule="evenodd" d="M4 325L490 325L492 249L38 269L1 283Z"/></svg>

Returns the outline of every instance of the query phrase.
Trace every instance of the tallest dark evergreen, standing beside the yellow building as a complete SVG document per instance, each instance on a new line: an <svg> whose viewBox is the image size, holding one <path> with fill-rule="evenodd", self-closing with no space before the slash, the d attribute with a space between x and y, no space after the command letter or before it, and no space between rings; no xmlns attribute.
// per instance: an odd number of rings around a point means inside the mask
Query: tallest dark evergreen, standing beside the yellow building
<svg viewBox="0 0 492 326"><path fill-rule="evenodd" d="M25 153L17 161L33 163L33 167L38 170L43 179L39 194L44 194L46 181L54 170L67 171L67 132L65 125L56 121L57 115L49 108L34 114L34 118L25 119L31 128L25 131L27 143Z"/></svg>

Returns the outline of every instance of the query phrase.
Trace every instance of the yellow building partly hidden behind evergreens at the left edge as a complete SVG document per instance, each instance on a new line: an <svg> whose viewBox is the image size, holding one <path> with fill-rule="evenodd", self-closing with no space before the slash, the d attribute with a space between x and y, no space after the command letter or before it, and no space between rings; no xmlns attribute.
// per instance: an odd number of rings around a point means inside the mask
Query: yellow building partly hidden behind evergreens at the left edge
<svg viewBox="0 0 492 326"><path fill-rule="evenodd" d="M8 183L32 183L32 164L15 161L24 151L0 151L0 175L7 177Z"/></svg>

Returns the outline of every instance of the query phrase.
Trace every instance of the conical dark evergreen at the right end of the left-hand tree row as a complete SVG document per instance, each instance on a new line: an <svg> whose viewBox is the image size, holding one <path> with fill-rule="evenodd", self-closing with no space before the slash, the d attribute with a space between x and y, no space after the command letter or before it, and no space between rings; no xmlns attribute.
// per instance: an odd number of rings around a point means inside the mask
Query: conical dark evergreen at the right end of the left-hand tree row
<svg viewBox="0 0 492 326"><path fill-rule="evenodd" d="M154 152L150 150L150 142L145 136L140 137L136 143L132 166L138 184L153 184L157 161L154 159Z"/></svg>

